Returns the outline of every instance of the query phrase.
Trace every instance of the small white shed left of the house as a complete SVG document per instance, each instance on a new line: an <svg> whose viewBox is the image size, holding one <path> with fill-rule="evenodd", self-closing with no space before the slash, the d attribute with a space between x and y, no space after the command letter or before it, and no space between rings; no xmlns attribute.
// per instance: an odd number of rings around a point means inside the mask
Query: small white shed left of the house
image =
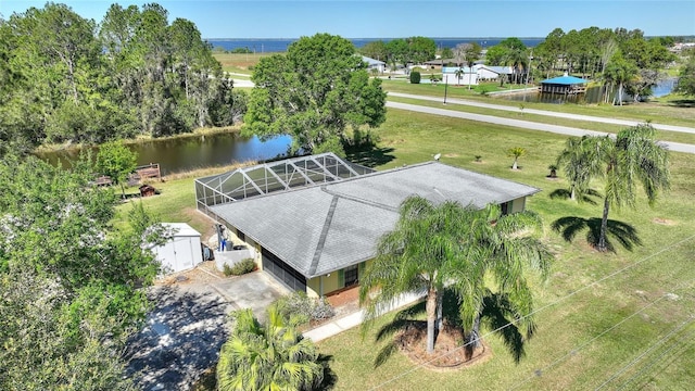
<svg viewBox="0 0 695 391"><path fill-rule="evenodd" d="M200 232L186 223L162 223L173 235L162 245L152 248L165 273L181 272L203 262Z"/></svg>

